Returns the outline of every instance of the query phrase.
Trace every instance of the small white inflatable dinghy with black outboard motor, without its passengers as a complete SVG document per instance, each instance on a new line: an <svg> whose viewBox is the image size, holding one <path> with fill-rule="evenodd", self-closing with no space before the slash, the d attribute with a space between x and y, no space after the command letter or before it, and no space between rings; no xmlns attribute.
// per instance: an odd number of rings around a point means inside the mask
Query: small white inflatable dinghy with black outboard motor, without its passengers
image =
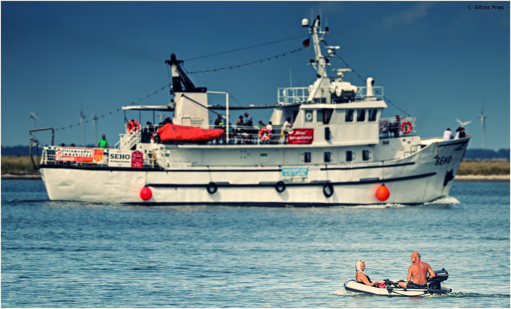
<svg viewBox="0 0 511 309"><path fill-rule="evenodd" d="M428 296L428 295L451 295L452 289L440 283L449 278L449 273L443 268L442 270L435 270L435 277L428 280L427 288L425 289L403 289L398 286L397 282L385 280L385 287L377 288L366 286L363 283L358 283L355 280L348 280L344 282L344 289L351 292L360 292L370 295L387 296L387 297L413 297L413 296ZM406 282L400 280L398 282Z"/></svg>

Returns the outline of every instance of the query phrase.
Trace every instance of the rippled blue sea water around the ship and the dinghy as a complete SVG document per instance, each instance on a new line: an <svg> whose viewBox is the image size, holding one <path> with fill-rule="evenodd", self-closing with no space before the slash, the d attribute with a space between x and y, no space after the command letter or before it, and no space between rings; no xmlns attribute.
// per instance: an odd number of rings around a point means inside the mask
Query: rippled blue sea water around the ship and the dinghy
<svg viewBox="0 0 511 309"><path fill-rule="evenodd" d="M270 208L49 201L2 181L3 307L509 307L509 183L422 206ZM347 292L419 251L452 296Z"/></svg>

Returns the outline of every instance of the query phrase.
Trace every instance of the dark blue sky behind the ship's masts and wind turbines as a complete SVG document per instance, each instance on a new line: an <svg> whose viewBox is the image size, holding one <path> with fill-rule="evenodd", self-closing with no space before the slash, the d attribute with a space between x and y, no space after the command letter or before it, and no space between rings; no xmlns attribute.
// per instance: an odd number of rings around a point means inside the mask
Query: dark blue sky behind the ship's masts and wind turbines
<svg viewBox="0 0 511 309"><path fill-rule="evenodd" d="M28 144L31 108L40 118L36 127L62 128L78 123L82 105L86 144L97 143L90 122L97 113L107 114L99 134L113 145L124 132L123 113L108 112L167 85L171 53L187 60L303 35L184 66L192 72L287 53L307 37L300 21L310 19L311 9L321 12L323 26L328 21L327 41L342 47L339 55L417 118L417 134L441 136L458 127L458 117L472 121L469 148L480 148L485 102L486 148L509 148L509 2L2 2L2 145ZM276 89L289 86L290 70L295 87L314 81L312 57L306 49L190 77L242 105L272 104ZM333 61L332 68L343 67ZM364 85L355 74L345 80ZM166 88L141 103L169 101ZM397 112L389 106L384 116ZM267 122L270 111L252 115ZM142 118L152 121L152 113ZM57 131L55 142L79 145L81 136L73 126Z"/></svg>

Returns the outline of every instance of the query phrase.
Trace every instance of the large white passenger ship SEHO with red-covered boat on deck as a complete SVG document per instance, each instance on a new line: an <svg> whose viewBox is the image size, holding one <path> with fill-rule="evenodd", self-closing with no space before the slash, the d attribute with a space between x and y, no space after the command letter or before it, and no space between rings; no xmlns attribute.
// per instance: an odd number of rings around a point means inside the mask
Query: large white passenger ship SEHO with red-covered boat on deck
<svg viewBox="0 0 511 309"><path fill-rule="evenodd" d="M308 64L317 80L278 88L274 104L229 105L228 93L196 87L172 55L166 61L171 104L123 109L173 111L173 124L125 128L112 149L53 146L52 128L31 130L52 130L52 146L37 164L50 199L327 206L422 204L447 196L470 138L421 138L413 117L382 118L383 87L371 78L364 86L343 81L350 69L331 68L339 47L324 43L328 27L322 29L319 16L302 26L309 29L316 57ZM225 94L225 105L209 105L210 93ZM254 108L273 109L272 127L227 126L230 111ZM210 126L218 114L225 114L222 123ZM37 143L31 135L31 147Z"/></svg>

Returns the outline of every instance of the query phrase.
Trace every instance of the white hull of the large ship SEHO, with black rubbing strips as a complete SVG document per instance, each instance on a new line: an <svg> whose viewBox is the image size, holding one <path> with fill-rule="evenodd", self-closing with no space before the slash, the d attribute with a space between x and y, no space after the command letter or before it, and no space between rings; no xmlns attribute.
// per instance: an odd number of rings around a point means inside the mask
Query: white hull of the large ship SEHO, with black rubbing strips
<svg viewBox="0 0 511 309"><path fill-rule="evenodd" d="M467 144L468 139L434 142L383 165L292 165L290 168L308 168L306 178L292 181L283 177L281 166L253 165L168 170L42 165L41 175L51 200L290 207L422 204L449 194L450 176L456 174ZM382 184L390 192L385 201L376 197ZM140 196L144 186L151 190L149 200Z"/></svg>

